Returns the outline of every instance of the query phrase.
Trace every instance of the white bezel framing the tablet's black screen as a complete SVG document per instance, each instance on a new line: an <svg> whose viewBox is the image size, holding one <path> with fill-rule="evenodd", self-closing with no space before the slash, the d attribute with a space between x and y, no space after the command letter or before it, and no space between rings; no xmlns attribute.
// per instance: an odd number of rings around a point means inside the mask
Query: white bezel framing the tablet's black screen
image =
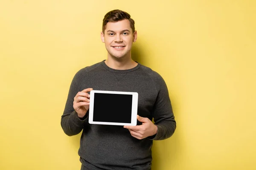
<svg viewBox="0 0 256 170"><path fill-rule="evenodd" d="M132 95L132 107L131 107L131 123L117 123L117 122L95 122L93 121L93 106L94 106L94 94L129 94ZM124 92L124 91L90 91L90 107L89 107L89 123L98 125L127 125L136 126L137 125L137 110L138 110L138 93L137 92Z"/></svg>

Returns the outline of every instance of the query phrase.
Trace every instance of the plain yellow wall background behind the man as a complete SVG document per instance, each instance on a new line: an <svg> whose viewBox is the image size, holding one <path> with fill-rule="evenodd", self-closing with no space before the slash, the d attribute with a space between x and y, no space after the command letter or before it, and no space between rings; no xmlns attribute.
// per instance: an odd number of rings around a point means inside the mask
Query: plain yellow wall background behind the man
<svg viewBox="0 0 256 170"><path fill-rule="evenodd" d="M116 8L177 120L152 169L256 170L255 0L0 0L0 170L79 170L80 135L61 115L74 74L106 58L102 19Z"/></svg>

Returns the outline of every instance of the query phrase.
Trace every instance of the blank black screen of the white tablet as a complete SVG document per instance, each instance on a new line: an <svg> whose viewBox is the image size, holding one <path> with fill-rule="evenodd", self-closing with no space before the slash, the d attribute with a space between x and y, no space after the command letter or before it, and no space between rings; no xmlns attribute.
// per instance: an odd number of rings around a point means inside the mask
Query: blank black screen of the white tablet
<svg viewBox="0 0 256 170"><path fill-rule="evenodd" d="M93 121L131 123L131 94L94 94Z"/></svg>

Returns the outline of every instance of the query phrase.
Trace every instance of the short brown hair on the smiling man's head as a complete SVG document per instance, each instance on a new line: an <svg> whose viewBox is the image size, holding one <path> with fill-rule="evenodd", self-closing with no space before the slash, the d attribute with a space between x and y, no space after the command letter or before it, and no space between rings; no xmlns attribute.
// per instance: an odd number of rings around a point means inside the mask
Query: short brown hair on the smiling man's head
<svg viewBox="0 0 256 170"><path fill-rule="evenodd" d="M107 14L105 14L105 17L103 19L103 23L102 23L102 32L104 34L104 31L106 29L106 25L108 22L117 22L117 21L121 21L121 20L129 20L130 21L130 26L132 29L132 32L134 33L135 31L135 22L133 19L131 19L131 15L128 14L125 11L121 11L119 9L115 9L113 11L109 11Z"/></svg>

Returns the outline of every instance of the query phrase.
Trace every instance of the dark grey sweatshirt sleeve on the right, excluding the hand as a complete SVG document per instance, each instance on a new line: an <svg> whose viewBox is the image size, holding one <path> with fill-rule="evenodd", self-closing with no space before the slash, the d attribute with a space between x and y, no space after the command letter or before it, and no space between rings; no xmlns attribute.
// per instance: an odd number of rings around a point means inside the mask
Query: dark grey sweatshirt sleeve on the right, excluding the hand
<svg viewBox="0 0 256 170"><path fill-rule="evenodd" d="M157 88L157 99L152 114L157 126L157 134L149 136L148 139L163 140L173 135L176 129L176 121L165 81L159 74L153 79Z"/></svg>

